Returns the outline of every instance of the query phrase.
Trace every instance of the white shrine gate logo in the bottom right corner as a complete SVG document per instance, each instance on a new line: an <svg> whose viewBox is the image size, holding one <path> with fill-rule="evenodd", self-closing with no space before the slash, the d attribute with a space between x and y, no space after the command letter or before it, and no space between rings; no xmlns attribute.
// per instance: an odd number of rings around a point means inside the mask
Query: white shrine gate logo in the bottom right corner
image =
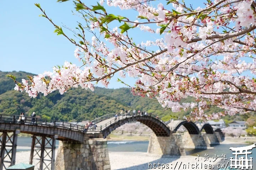
<svg viewBox="0 0 256 170"><path fill-rule="evenodd" d="M230 157L230 164L231 164L230 168L249 169L250 167L252 169L252 157L248 159L247 155L251 154L252 152L248 152L248 151L252 150L252 148L255 148L255 147L256 147L255 144L250 146L245 146L245 147L238 147L238 148L230 147L229 148L230 150L235 151L235 153L232 153L233 155L235 155L235 159L233 157ZM245 155L245 157L238 158L238 155Z"/></svg>

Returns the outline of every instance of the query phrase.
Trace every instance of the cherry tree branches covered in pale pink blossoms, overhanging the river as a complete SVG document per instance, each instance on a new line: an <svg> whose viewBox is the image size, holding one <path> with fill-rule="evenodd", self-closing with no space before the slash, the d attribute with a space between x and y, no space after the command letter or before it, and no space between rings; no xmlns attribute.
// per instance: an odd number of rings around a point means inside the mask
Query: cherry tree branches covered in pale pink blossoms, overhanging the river
<svg viewBox="0 0 256 170"><path fill-rule="evenodd" d="M54 32L76 46L74 56L81 64L63 61L53 72L22 82L9 75L16 82L15 90L25 90L31 97L55 90L63 94L78 86L93 91L97 83L107 87L113 75L119 74L137 78L134 94L155 97L173 112L191 108L194 119L255 112L255 1L206 0L196 8L188 0L161 2L100 0L90 6L76 0L76 14L83 22L75 29L57 26L35 4ZM137 18L108 10L114 7L136 11ZM131 36L138 34L147 35L147 40ZM187 96L196 102L178 103ZM206 114L213 106L220 111Z"/></svg>

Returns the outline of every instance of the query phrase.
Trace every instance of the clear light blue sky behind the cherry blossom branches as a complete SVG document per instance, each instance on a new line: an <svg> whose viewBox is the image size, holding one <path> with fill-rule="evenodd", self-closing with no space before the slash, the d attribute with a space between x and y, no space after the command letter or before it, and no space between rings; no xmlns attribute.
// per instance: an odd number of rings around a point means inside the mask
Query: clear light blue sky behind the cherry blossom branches
<svg viewBox="0 0 256 170"><path fill-rule="evenodd" d="M15 1L13 4L9 1L1 1L0 70L39 74L44 71L52 71L53 66L62 65L65 61L81 65L74 57L75 45L71 44L64 36L57 36L53 33L52 24L46 18L38 16L41 11L34 6L34 3L39 3L57 25L65 24L69 28L77 26L76 21L79 17L71 13L71 10L74 11L72 1L58 3L55 0L26 0ZM90 3L96 5L96 1ZM158 3L159 1L156 4ZM165 4L166 1L162 1L162 3ZM199 6L198 2L197 4L193 3L193 7L197 6ZM116 15L136 19L135 11L122 11L114 7L110 9L106 3L104 7ZM68 30L65 30L65 33L72 35ZM131 36L135 42L159 38L148 34L138 30L133 31ZM91 35L88 37L91 39ZM116 82L117 78L118 76L112 78L108 88L124 87L123 84ZM133 85L135 82L134 78L122 80L129 85Z"/></svg>

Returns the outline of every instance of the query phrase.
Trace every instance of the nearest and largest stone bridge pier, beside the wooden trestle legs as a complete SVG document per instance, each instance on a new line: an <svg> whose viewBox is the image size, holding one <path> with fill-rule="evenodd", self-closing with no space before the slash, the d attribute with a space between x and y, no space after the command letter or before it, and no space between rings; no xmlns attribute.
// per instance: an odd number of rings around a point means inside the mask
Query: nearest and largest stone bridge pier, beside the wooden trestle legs
<svg viewBox="0 0 256 170"><path fill-rule="evenodd" d="M110 170L107 140L86 135L83 143L59 143L55 170Z"/></svg>

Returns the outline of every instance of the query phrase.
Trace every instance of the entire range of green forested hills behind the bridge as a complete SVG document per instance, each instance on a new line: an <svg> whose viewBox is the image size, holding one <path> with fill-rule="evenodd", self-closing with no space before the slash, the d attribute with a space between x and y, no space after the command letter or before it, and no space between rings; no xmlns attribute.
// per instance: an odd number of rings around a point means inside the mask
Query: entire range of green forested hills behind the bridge
<svg viewBox="0 0 256 170"><path fill-rule="evenodd" d="M129 88L106 89L96 87L95 91L84 90L81 88L71 88L63 95L54 91L48 96L39 95L30 98L25 92L14 90L15 83L7 74L13 74L18 81L27 79L26 72L1 72L0 71L0 113L1 114L20 114L21 112L31 115L36 112L42 118L49 118L62 121L82 121L91 120L104 114L120 112L120 109L136 111L146 111L169 120L170 115L183 117L191 112L172 113L171 109L162 108L158 101L148 97L134 96ZM192 97L183 99L182 102L194 101ZM213 107L208 113L219 112L220 109ZM234 118L234 117L233 117ZM228 118L232 120L233 118ZM238 120L242 118L238 117ZM234 120L234 119L233 119Z"/></svg>

